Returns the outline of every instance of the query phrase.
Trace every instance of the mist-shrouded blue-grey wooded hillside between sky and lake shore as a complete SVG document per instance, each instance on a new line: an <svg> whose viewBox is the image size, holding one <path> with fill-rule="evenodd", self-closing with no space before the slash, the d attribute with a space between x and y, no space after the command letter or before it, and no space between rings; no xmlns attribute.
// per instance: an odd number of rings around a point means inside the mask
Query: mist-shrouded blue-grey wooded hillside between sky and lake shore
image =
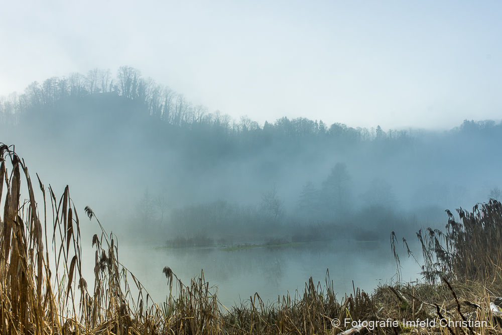
<svg viewBox="0 0 502 335"><path fill-rule="evenodd" d="M117 227L214 241L388 236L499 195L502 182L502 125L490 120L442 132L260 125L209 113L127 66L1 97L0 135L44 182L70 184Z"/></svg>

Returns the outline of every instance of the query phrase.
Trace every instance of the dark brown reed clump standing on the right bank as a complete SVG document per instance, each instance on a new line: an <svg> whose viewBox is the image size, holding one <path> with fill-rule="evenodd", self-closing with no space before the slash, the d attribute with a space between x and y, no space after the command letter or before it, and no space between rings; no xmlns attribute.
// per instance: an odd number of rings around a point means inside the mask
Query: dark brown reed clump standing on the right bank
<svg viewBox="0 0 502 335"><path fill-rule="evenodd" d="M472 212L448 213L446 232L428 228L417 233L424 255L423 275L431 283L441 277L463 281L502 282L502 204L490 199Z"/></svg>

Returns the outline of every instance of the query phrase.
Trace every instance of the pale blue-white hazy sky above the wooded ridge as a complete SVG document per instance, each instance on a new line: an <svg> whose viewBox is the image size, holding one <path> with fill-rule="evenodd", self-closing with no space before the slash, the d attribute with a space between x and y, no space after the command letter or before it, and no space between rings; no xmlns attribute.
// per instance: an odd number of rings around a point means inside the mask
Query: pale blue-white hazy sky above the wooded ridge
<svg viewBox="0 0 502 335"><path fill-rule="evenodd" d="M209 111L384 130L502 118L502 2L0 2L0 95L129 65Z"/></svg>

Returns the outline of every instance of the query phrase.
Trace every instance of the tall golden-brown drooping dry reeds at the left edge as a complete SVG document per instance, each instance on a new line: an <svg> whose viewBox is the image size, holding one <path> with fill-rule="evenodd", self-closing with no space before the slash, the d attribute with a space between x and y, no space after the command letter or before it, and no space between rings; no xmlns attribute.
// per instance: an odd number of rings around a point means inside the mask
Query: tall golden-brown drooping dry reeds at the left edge
<svg viewBox="0 0 502 335"><path fill-rule="evenodd" d="M2 334L138 333L138 320L146 324L155 313L151 313L153 306L147 311L148 299L143 303L144 287L118 263L114 236L102 229L101 237L93 238L95 278L94 289L89 290L82 277L80 223L69 188L57 198L52 187L38 182L44 200L42 219L28 168L16 153L0 144L0 198L6 186L0 219ZM22 183L29 198L20 203ZM52 213L47 209L47 197ZM87 213L92 217L90 208ZM139 290L136 301L128 275Z"/></svg>

